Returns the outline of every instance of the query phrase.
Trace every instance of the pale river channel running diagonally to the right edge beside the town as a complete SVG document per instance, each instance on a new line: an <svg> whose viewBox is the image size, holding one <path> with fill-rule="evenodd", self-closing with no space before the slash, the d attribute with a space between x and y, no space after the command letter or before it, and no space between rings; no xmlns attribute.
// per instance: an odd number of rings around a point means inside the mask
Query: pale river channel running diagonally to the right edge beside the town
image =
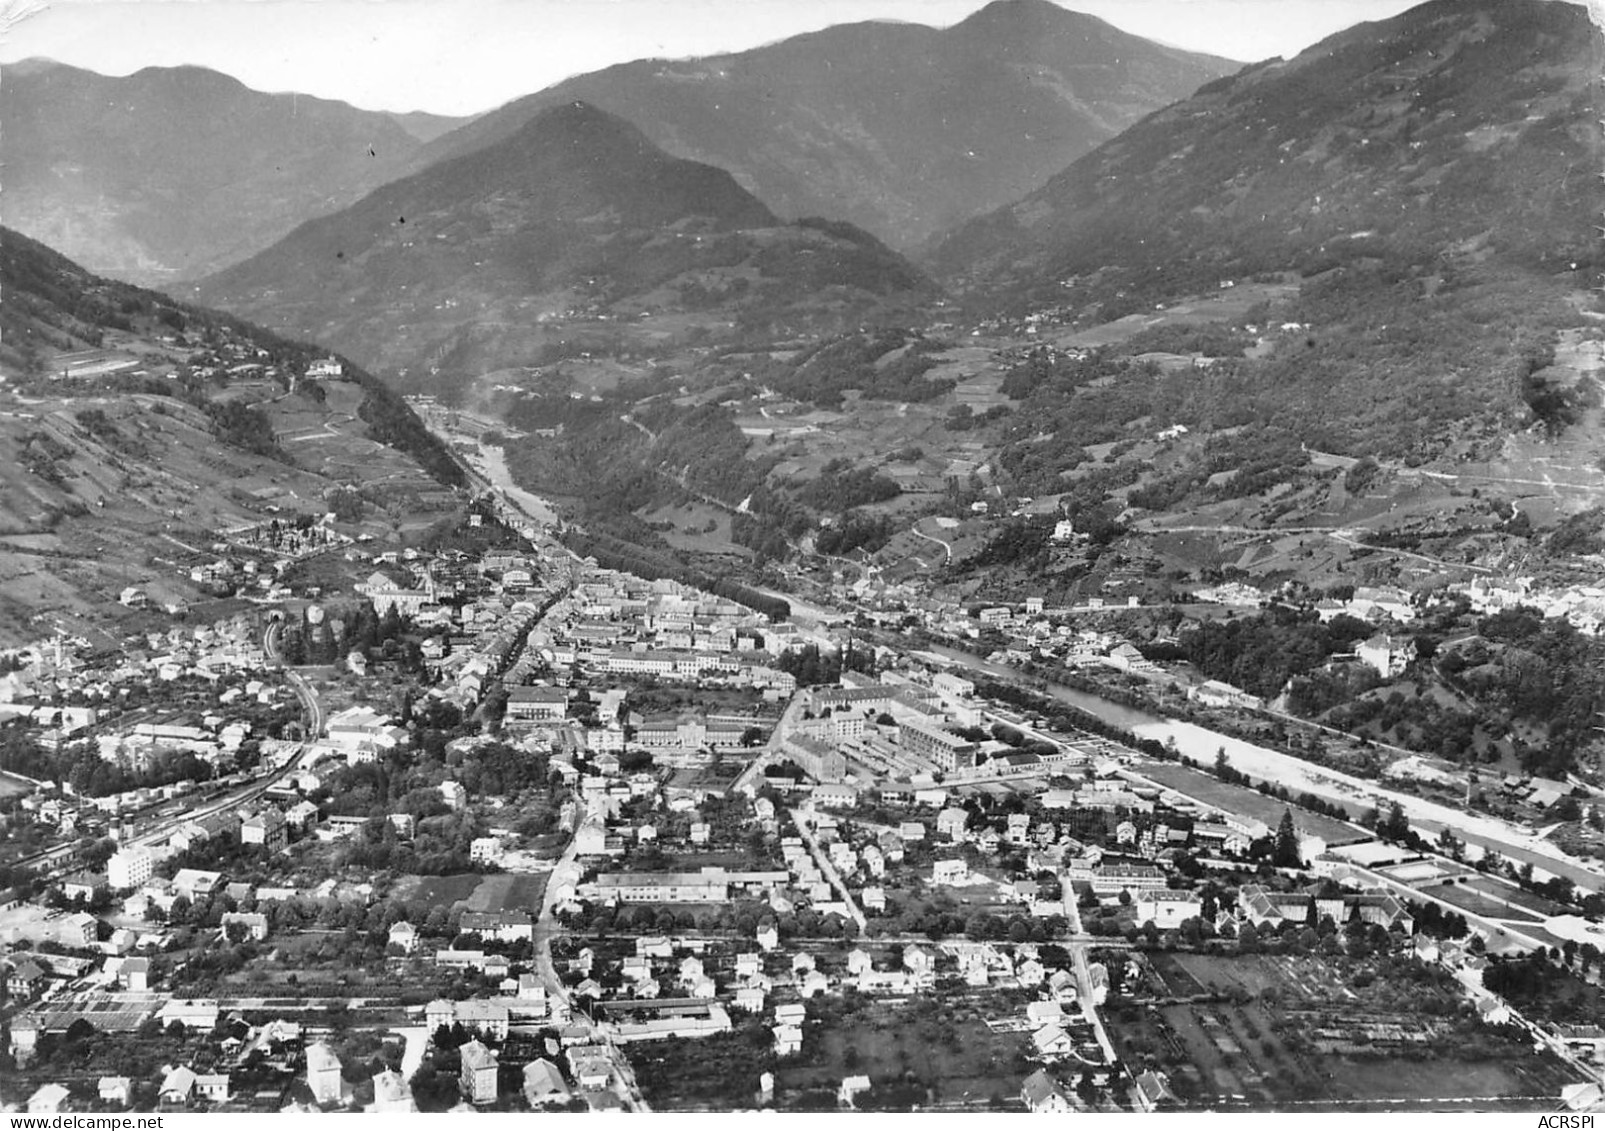
<svg viewBox="0 0 1605 1131"><path fill-rule="evenodd" d="M931 651L971 671L985 672L997 679L1016 682L1022 679L1021 672L1011 667L989 663L957 648L933 645ZM1372 805L1380 809L1398 802L1409 823L1428 837L1448 828L1470 845L1485 850L1493 849L1512 860L1531 863L1539 879L1546 874L1565 876L1581 889L1605 889L1605 874L1597 866L1589 866L1575 857L1568 857L1549 841L1533 836L1509 821L1465 813L1433 801L1395 793L1375 781L1356 778L1340 770L1329 770L1314 762L1257 746L1241 738L1223 735L1218 730L1210 730L1209 727L1181 722L1180 719L1165 719L1164 715L1112 703L1099 695L1064 687L1063 683L1048 683L1045 690L1053 698L1080 707L1112 727L1128 730L1138 738L1151 738L1157 743L1173 741L1176 749L1194 762L1213 765L1215 756L1225 751L1233 768L1247 773L1250 778L1286 786L1294 794L1308 793L1324 801L1337 802L1356 817Z"/></svg>

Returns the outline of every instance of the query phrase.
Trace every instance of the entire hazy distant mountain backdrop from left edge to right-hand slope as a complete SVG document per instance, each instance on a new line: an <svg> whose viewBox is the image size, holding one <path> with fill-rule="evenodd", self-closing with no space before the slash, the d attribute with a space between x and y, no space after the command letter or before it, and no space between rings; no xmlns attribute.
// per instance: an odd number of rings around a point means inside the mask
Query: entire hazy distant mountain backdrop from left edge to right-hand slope
<svg viewBox="0 0 1605 1131"><path fill-rule="evenodd" d="M6 223L96 271L193 281L584 101L782 217L846 220L907 250L1236 66L1048 0L997 0L945 30L851 24L628 63L475 119L266 95L194 66L108 77L29 59L0 91Z"/></svg>

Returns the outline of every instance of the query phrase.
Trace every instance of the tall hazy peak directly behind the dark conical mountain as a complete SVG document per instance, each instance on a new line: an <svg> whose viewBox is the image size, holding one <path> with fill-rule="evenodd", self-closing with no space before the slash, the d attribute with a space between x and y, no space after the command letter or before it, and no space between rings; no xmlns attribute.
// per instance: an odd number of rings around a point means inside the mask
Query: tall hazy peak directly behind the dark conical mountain
<svg viewBox="0 0 1605 1131"><path fill-rule="evenodd" d="M847 220L907 252L1241 66L1048 0L995 0L947 29L843 24L578 75L437 138L412 164L496 144L578 99L729 170L783 217Z"/></svg>

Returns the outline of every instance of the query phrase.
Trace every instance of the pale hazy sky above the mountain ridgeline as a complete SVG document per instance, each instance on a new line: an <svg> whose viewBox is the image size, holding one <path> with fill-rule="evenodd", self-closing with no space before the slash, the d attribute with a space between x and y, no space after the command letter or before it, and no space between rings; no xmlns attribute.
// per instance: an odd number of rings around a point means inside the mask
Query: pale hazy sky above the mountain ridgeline
<svg viewBox="0 0 1605 1131"><path fill-rule="evenodd" d="M1416 0L1064 0L1233 59L1294 55ZM732 51L859 19L945 27L984 0L0 0L0 64L103 74L194 63L257 90L469 114L648 56Z"/></svg>

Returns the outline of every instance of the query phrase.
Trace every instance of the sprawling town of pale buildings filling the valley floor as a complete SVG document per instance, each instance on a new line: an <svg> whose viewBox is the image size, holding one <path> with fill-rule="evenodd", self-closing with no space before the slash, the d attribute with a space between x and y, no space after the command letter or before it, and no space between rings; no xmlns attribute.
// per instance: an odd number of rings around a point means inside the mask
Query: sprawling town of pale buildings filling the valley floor
<svg viewBox="0 0 1605 1131"><path fill-rule="evenodd" d="M191 578L249 611L132 589L164 630L6 656L29 1110L1600 1099L1600 873L1528 823L1597 821L1581 784L1289 786L1260 696L1099 606L759 611L494 491L430 545L339 526L220 534ZM1409 663L1411 595L1316 611ZM1088 674L1183 685L1191 730Z"/></svg>

